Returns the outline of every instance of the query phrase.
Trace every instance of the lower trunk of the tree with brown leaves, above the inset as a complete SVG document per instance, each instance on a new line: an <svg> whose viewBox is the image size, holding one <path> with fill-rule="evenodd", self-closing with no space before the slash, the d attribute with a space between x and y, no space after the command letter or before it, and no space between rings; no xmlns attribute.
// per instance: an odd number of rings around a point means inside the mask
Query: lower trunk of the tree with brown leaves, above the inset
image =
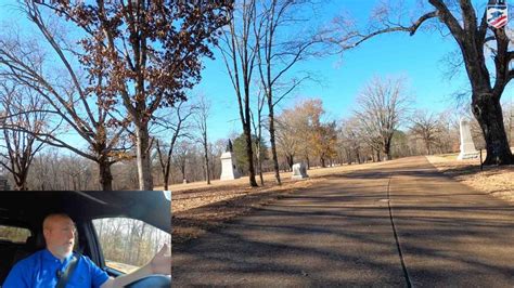
<svg viewBox="0 0 514 288"><path fill-rule="evenodd" d="M152 166L150 162L150 136L146 122L136 125L136 153L138 163L138 181L140 191L152 191Z"/></svg>

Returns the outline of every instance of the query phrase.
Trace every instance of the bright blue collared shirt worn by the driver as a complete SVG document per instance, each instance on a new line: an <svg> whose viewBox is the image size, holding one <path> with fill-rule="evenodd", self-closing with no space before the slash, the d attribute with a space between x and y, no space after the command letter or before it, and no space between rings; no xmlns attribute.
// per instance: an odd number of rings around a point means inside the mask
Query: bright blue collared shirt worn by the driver
<svg viewBox="0 0 514 288"><path fill-rule="evenodd" d="M97 288L108 279L107 273L85 256L74 253L61 262L44 249L17 262L3 283L3 288L54 288L57 285L57 270L64 271L73 257L78 257L78 262L66 287Z"/></svg>

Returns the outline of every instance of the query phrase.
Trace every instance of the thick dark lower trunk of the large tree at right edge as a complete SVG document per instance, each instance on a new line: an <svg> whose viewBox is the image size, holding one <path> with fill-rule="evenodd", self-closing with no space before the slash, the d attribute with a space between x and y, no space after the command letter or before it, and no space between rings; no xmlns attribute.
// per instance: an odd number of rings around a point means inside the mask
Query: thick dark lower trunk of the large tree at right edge
<svg viewBox="0 0 514 288"><path fill-rule="evenodd" d="M514 163L503 125L500 97L490 93L473 93L472 110L486 141L487 157L484 165Z"/></svg>

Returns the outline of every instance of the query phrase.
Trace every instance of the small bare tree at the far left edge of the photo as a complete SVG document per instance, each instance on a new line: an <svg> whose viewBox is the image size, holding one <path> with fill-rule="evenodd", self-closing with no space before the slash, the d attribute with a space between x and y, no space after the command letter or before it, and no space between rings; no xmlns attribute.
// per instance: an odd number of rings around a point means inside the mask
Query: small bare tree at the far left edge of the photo
<svg viewBox="0 0 514 288"><path fill-rule="evenodd" d="M35 134L47 126L49 113L41 96L30 89L14 83L0 83L0 106L2 117L0 129L3 132L3 158L0 165L14 179L14 188L28 189L27 176L35 155L43 147ZM30 113L26 113L26 112ZM4 161L5 160L5 161Z"/></svg>

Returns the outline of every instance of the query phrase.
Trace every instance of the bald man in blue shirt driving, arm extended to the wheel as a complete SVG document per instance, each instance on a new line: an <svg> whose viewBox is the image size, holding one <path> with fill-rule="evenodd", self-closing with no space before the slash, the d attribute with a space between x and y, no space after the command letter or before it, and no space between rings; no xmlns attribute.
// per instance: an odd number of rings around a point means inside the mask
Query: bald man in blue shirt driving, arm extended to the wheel
<svg viewBox="0 0 514 288"><path fill-rule="evenodd" d="M167 245L139 270L113 278L98 267L89 258L74 253L75 223L66 214L50 214L43 221L47 248L20 261L9 273L3 288L55 287L63 271L77 259L68 285L73 287L124 287L152 274L171 274L171 256L165 256Z"/></svg>

